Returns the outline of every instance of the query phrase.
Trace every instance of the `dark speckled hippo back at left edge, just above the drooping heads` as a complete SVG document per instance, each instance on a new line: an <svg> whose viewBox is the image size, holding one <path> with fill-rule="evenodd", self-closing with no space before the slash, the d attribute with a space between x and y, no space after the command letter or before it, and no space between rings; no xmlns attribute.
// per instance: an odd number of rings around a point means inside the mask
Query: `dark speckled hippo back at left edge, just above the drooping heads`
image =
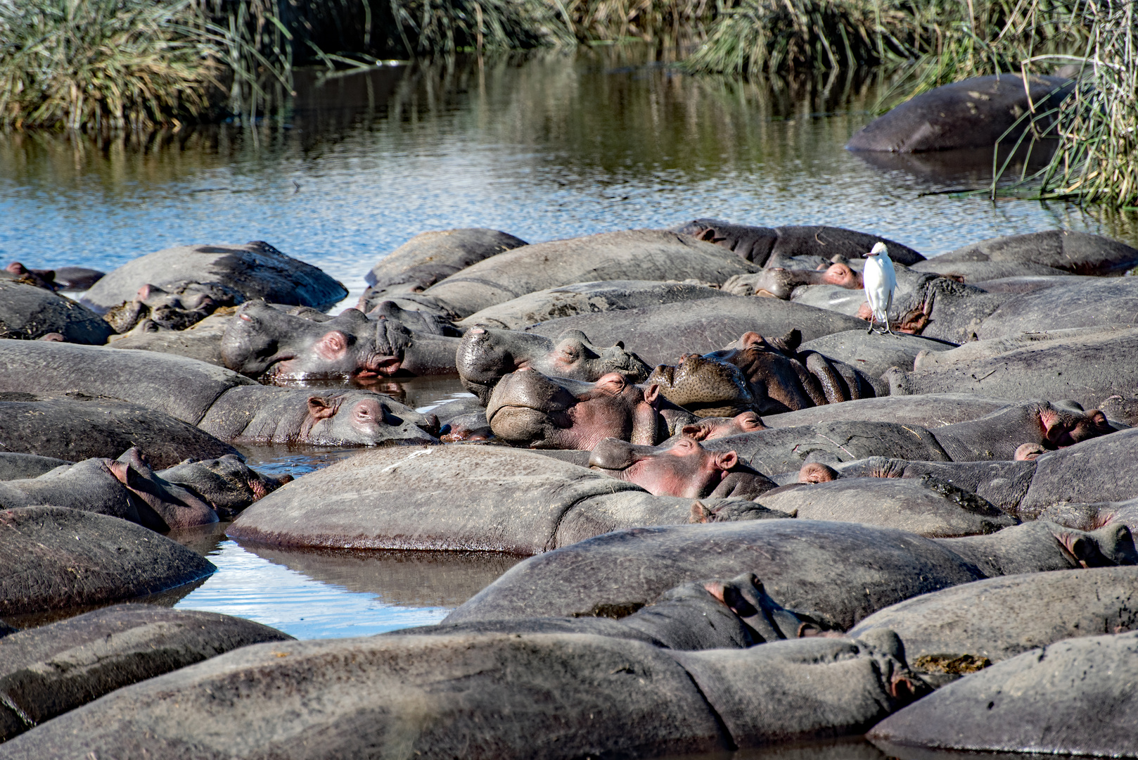
<svg viewBox="0 0 1138 760"><path fill-rule="evenodd" d="M187 457L237 453L232 446L167 414L82 394L50 398L0 392L0 441L8 452L71 461L115 458L138 446L158 468Z"/></svg>

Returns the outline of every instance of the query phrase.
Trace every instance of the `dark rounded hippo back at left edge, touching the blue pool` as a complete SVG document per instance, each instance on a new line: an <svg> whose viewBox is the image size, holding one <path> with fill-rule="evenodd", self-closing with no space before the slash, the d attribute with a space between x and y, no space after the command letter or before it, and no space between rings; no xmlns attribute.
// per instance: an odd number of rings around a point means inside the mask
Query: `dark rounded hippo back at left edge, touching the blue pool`
<svg viewBox="0 0 1138 760"><path fill-rule="evenodd" d="M75 537L79 537L76 540ZM64 507L0 512L0 615L123 602L184 586L216 567L141 525Z"/></svg>

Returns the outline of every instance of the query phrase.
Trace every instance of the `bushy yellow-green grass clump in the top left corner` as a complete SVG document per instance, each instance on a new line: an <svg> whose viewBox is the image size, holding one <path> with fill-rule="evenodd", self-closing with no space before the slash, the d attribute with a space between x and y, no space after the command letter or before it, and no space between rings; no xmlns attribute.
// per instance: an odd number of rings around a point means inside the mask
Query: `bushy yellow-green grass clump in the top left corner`
<svg viewBox="0 0 1138 760"><path fill-rule="evenodd" d="M0 123L147 128L208 109L221 66L188 1L0 2Z"/></svg>

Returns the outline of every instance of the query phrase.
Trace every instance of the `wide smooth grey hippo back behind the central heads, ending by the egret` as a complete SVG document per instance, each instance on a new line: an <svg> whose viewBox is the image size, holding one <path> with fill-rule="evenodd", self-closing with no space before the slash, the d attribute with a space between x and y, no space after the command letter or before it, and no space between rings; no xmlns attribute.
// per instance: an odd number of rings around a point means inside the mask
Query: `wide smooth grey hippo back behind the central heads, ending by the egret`
<svg viewBox="0 0 1138 760"><path fill-rule="evenodd" d="M670 363L685 353L707 353L748 332L785 335L798 329L803 341L813 341L832 333L865 332L865 321L792 301L729 296L562 317L527 327L526 332L556 337L567 329L583 330L602 345L620 341L625 349L655 366Z"/></svg>

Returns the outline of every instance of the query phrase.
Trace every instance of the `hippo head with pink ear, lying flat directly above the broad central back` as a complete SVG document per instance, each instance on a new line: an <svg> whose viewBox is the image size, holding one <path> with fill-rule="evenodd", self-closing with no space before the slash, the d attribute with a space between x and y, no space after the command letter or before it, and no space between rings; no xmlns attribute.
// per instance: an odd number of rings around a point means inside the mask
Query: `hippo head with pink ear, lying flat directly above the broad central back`
<svg viewBox="0 0 1138 760"><path fill-rule="evenodd" d="M438 418L413 409L393 412L391 402L371 391L344 391L308 397L300 438L323 446L437 443Z"/></svg>

